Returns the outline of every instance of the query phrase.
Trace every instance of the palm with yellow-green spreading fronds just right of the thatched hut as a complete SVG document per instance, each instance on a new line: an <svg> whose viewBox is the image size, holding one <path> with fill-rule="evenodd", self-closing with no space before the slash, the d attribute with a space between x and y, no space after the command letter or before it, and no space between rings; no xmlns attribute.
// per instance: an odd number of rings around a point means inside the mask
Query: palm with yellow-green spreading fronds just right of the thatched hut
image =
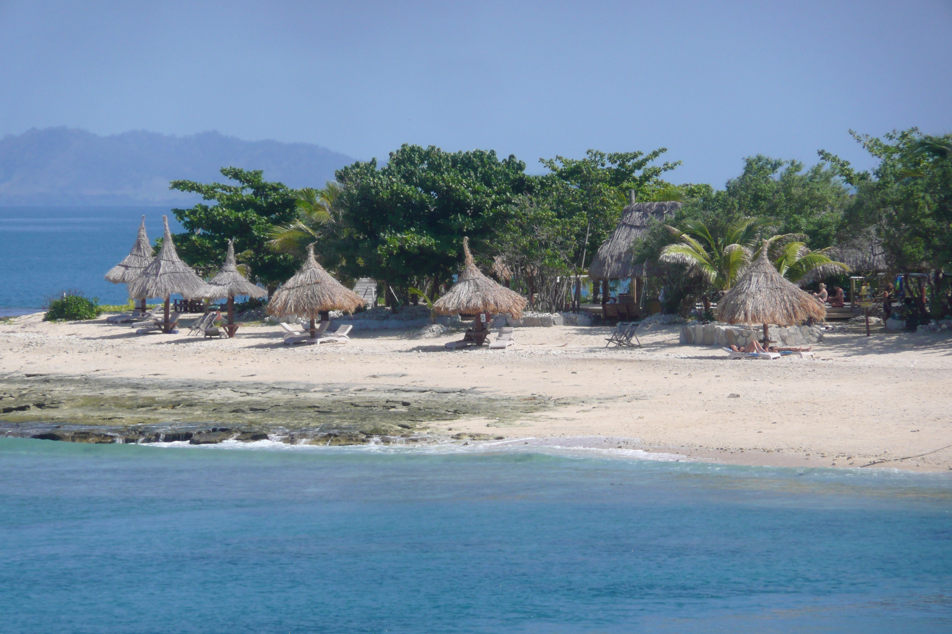
<svg viewBox="0 0 952 634"><path fill-rule="evenodd" d="M683 230L668 226L680 241L665 246L661 259L693 267L719 290L726 291L750 263L757 234L771 222L742 218L729 224L723 236L702 221L686 221Z"/></svg>

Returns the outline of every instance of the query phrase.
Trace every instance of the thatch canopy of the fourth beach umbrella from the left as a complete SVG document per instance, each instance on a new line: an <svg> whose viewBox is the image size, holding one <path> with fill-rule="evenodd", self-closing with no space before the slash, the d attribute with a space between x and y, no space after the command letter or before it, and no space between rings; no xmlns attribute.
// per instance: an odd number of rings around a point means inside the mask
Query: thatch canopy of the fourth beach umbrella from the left
<svg viewBox="0 0 952 634"><path fill-rule="evenodd" d="M317 319L325 311L353 313L364 300L330 277L314 259L314 245L307 245L307 258L294 277L281 285L268 301L268 315L299 315Z"/></svg>

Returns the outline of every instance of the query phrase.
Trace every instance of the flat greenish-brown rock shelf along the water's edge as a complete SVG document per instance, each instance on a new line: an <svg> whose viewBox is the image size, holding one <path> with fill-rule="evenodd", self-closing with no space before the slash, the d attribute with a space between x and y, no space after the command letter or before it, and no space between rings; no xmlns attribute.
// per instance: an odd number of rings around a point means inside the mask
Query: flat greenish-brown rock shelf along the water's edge
<svg viewBox="0 0 952 634"><path fill-rule="evenodd" d="M0 377L0 437L193 445L466 442L505 436L452 434L434 424L484 418L487 427L506 427L569 402L475 389L13 374Z"/></svg>

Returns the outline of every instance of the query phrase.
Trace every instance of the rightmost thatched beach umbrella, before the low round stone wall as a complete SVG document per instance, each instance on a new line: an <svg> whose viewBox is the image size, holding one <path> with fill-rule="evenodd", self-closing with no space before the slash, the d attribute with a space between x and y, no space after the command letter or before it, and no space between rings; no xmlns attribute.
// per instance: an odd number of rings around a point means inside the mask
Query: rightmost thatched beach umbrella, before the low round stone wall
<svg viewBox="0 0 952 634"><path fill-rule="evenodd" d="M729 323L764 324L764 345L769 340L767 324L792 326L807 319L823 321L826 309L796 284L783 279L767 258L766 240L760 256L717 304L717 318Z"/></svg>

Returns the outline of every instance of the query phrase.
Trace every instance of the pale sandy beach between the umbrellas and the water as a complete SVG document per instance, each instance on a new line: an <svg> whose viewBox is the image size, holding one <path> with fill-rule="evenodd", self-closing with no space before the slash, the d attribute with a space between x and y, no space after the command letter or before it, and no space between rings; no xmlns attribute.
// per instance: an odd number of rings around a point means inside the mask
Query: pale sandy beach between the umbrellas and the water
<svg viewBox="0 0 952 634"><path fill-rule="evenodd" d="M186 332L139 336L104 319L17 317L0 322L0 372L475 388L572 404L437 431L589 438L724 464L952 470L947 333L880 329L867 338L851 328L827 335L813 359L729 361L718 348L679 345L676 326L655 326L643 348L622 350L605 350L605 327L521 328L507 350L457 352L443 347L459 338L451 333L359 331L347 344L292 348L273 325L245 326L233 339Z"/></svg>

